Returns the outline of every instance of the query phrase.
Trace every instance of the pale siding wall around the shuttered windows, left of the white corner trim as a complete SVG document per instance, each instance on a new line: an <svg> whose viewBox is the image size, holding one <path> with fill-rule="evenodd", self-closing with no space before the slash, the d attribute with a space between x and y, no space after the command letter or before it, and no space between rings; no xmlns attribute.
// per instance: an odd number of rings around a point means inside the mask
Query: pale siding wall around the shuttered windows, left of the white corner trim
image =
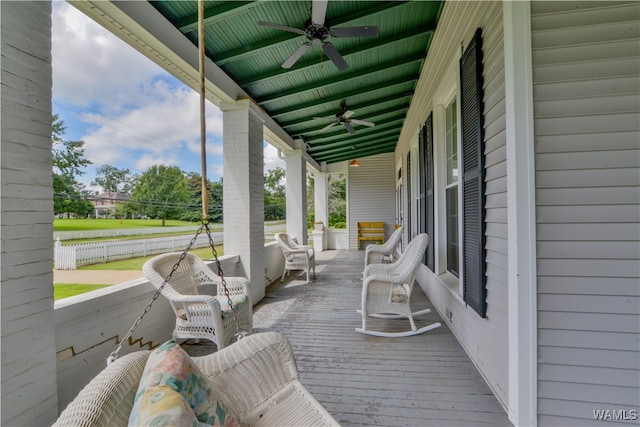
<svg viewBox="0 0 640 427"><path fill-rule="evenodd" d="M445 79L449 64L460 57L461 46L469 44L478 27L482 28L484 53L487 317L482 319L466 307L461 296L426 266L418 272L418 283L506 407L507 179L501 2L445 3L396 155L406 158L407 151L417 145L418 130L433 111L436 90ZM452 313L452 321L447 319L447 310Z"/></svg>

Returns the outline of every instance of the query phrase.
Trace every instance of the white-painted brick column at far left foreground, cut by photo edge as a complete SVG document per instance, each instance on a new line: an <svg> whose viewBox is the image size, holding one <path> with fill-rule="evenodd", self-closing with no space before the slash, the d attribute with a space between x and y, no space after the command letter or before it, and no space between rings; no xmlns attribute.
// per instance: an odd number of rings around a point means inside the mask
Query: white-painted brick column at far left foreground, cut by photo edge
<svg viewBox="0 0 640 427"><path fill-rule="evenodd" d="M1 2L2 425L57 415L53 324L51 5Z"/></svg>

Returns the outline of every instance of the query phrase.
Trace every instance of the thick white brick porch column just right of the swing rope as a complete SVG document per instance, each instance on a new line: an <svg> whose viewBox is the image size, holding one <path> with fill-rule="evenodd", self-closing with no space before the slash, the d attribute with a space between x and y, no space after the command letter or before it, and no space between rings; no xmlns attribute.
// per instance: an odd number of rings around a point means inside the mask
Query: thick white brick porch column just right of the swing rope
<svg viewBox="0 0 640 427"><path fill-rule="evenodd" d="M250 100L223 104L224 253L240 255L251 299L264 298L263 121Z"/></svg>

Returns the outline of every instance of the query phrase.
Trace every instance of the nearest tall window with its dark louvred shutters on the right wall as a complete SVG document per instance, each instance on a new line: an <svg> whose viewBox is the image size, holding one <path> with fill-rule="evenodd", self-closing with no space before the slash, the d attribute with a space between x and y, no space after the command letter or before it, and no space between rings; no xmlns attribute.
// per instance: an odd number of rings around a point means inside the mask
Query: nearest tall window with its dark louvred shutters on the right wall
<svg viewBox="0 0 640 427"><path fill-rule="evenodd" d="M425 263L486 315L482 31L441 83L420 132L420 231Z"/></svg>

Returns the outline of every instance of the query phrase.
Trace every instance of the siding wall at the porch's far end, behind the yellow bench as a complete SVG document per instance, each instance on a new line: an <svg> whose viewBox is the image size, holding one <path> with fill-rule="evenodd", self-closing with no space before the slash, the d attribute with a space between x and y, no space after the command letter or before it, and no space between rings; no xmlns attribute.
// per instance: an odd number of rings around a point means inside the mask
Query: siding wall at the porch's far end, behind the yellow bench
<svg viewBox="0 0 640 427"><path fill-rule="evenodd" d="M395 172L393 153L359 158L360 167L349 168L347 175L347 220L349 248L358 247L358 222L382 221L385 235L395 225ZM361 249L370 242L364 242Z"/></svg>

